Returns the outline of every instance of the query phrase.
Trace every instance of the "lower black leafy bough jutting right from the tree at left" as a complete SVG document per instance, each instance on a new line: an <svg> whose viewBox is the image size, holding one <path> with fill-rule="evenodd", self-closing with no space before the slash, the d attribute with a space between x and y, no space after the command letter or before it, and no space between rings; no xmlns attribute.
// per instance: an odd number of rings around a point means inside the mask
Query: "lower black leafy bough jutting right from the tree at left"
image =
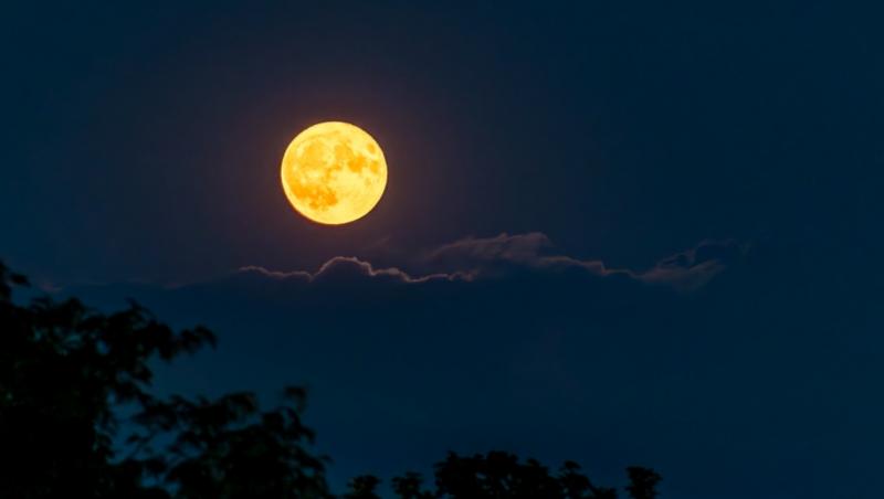
<svg viewBox="0 0 884 499"><path fill-rule="evenodd" d="M324 459L304 447L313 439L301 422L304 396L301 389L286 389L287 403L263 413L251 393L211 402L172 397L137 415L150 433L129 442L141 446L179 425L172 444L151 457L167 458L165 480L182 499L328 497Z"/></svg>

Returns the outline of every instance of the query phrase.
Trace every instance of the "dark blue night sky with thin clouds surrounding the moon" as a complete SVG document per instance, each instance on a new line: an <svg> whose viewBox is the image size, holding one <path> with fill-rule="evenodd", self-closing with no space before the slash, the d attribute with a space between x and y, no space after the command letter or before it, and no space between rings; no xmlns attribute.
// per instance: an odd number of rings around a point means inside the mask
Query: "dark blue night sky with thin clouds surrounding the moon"
<svg viewBox="0 0 884 499"><path fill-rule="evenodd" d="M878 497L884 8L177 3L0 15L0 257L215 330L161 390L306 384L337 485L499 448ZM280 185L325 120L389 166L349 225Z"/></svg>

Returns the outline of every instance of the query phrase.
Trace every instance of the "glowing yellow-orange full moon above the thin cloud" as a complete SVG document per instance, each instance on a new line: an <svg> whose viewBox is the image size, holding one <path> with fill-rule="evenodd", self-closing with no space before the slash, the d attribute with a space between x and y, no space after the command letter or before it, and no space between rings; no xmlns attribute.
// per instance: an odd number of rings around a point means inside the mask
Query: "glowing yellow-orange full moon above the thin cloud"
<svg viewBox="0 0 884 499"><path fill-rule="evenodd" d="M387 187L387 161L378 142L341 121L314 125L283 155L282 181L292 206L307 219L340 225L361 219Z"/></svg>

